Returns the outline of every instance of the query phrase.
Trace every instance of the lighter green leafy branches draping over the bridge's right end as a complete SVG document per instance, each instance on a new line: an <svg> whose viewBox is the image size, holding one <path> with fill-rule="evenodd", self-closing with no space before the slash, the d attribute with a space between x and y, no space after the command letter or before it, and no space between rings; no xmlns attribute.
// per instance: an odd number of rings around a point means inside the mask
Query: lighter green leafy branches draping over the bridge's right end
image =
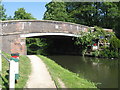
<svg viewBox="0 0 120 90"><path fill-rule="evenodd" d="M85 54L85 52L87 51L87 47L88 45L92 46L94 44L94 40L100 39L100 36L104 36L107 35L105 33L105 31L103 31L102 28L99 27L95 27L95 30L93 32L91 32L91 30L89 30L89 32L81 32L80 33L81 37L77 38L76 44L77 45L82 45L82 51L83 51L83 55Z"/></svg>

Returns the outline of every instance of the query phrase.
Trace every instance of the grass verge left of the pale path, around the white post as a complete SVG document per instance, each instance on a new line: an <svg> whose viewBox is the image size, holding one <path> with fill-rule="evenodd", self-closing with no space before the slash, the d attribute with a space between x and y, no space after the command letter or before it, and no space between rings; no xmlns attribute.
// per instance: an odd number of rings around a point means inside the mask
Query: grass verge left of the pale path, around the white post
<svg viewBox="0 0 120 90"><path fill-rule="evenodd" d="M11 58L10 54L3 53L8 59ZM24 88L26 85L26 82L28 80L28 76L31 73L31 64L30 60L27 56L21 55L20 56L20 61L19 61L19 74L20 77L18 79L18 82L15 84L15 88ZM7 60L2 58L2 88L8 88L9 86L9 73L7 72L9 70L9 63Z"/></svg>

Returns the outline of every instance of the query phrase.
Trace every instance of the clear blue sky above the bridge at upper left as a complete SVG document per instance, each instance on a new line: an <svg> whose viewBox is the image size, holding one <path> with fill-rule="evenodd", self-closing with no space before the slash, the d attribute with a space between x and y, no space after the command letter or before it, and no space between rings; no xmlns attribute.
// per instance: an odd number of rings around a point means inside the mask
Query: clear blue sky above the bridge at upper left
<svg viewBox="0 0 120 90"><path fill-rule="evenodd" d="M7 16L14 16L18 8L25 8L27 13L31 13L37 20L42 20L46 11L45 5L49 2L2 2L6 9Z"/></svg>

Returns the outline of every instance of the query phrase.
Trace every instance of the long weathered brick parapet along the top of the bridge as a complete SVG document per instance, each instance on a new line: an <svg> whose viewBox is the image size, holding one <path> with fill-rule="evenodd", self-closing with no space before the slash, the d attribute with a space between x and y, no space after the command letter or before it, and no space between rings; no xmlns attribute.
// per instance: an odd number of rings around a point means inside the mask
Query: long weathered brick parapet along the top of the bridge
<svg viewBox="0 0 120 90"><path fill-rule="evenodd" d="M81 31L87 32L88 26L73 24L61 21L49 20L10 20L2 21L2 33L5 34L25 34L25 33L45 33L64 32L77 34Z"/></svg>

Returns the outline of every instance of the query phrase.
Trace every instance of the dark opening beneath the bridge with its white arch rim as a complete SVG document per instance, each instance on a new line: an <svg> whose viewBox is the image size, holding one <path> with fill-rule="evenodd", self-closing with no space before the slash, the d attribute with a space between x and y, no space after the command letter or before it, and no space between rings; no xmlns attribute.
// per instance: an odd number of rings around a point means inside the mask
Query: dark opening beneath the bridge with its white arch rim
<svg viewBox="0 0 120 90"><path fill-rule="evenodd" d="M38 34L38 33L37 33ZM43 55L77 55L80 48L75 45L76 35L45 33L38 35L21 35L26 38L26 53ZM34 39L35 38L35 39ZM43 42L43 46L38 45L38 40ZM35 44L37 43L37 45ZM44 46L45 45L45 46Z"/></svg>

